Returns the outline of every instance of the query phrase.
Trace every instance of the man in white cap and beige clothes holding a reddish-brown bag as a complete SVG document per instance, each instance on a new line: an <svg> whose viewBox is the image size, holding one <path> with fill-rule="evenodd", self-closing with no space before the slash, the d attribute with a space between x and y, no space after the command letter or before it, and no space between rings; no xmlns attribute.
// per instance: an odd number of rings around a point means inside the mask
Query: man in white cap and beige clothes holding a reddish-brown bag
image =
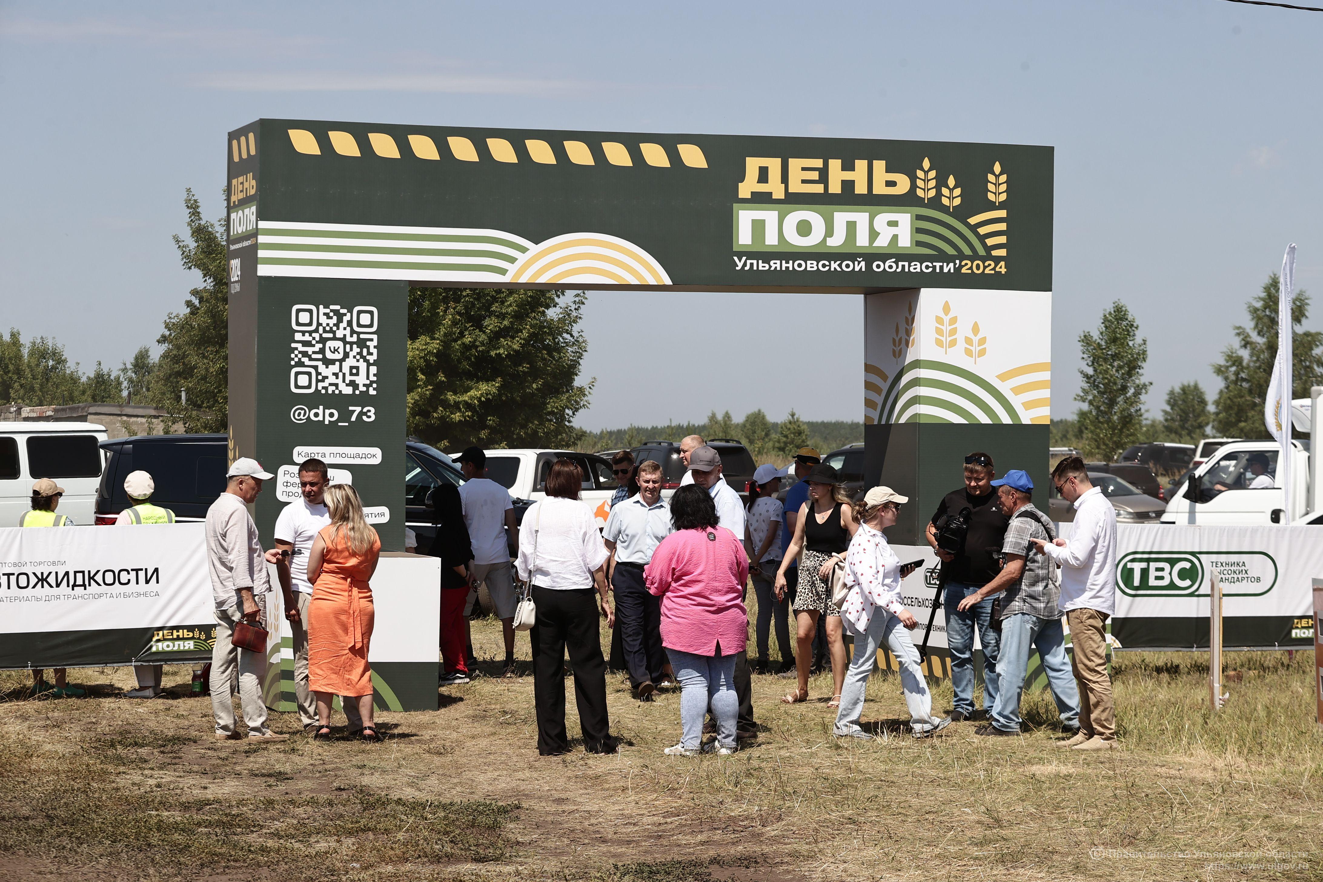
<svg viewBox="0 0 1323 882"><path fill-rule="evenodd" d="M235 647L234 627L239 621L257 623L262 615L258 598L271 590L266 575L266 555L258 538L257 524L247 506L257 501L262 481L275 475L262 468L255 459L242 456L225 473L225 492L206 509L206 567L212 577L212 595L216 599L216 648L212 651L212 714L216 717L216 737L221 741L239 741L234 725L234 702L230 684L238 669L239 702L243 722L247 723L250 744L286 741L266 727L266 703L262 701L262 680L266 656ZM274 558L279 551L271 551Z"/></svg>

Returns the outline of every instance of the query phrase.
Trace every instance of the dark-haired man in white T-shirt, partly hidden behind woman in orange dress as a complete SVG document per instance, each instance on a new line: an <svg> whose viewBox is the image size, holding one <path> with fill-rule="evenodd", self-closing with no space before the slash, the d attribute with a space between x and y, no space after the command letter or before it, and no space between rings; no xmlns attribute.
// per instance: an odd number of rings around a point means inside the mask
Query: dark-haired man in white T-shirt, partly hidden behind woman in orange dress
<svg viewBox="0 0 1323 882"><path fill-rule="evenodd" d="M327 510L325 492L329 484L327 464L320 459L306 459L299 465L299 493L302 499L290 502L275 518L275 547L280 559L275 574L284 595L284 618L290 620L294 633L294 698L299 706L299 721L303 730L318 727L318 705L308 690L308 603L312 600L312 583L308 582L308 551L312 541L324 526L331 525ZM363 729L359 705L341 701L344 715L349 721L349 731Z"/></svg>

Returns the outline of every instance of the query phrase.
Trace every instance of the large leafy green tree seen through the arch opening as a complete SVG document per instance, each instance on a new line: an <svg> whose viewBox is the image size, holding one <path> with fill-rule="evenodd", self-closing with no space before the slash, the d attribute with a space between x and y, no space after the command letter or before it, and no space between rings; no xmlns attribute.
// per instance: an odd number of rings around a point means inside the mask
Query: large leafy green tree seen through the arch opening
<svg viewBox="0 0 1323 882"><path fill-rule="evenodd" d="M570 447L587 341L579 291L410 288L409 431L441 447Z"/></svg>

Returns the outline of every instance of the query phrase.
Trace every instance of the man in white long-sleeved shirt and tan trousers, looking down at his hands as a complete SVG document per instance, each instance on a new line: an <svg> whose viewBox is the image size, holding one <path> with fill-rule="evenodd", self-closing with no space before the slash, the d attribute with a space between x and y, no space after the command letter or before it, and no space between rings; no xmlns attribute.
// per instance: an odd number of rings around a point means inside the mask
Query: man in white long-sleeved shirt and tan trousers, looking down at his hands
<svg viewBox="0 0 1323 882"><path fill-rule="evenodd" d="M1069 540L1032 540L1061 565L1060 608L1070 625L1070 664L1080 684L1080 731L1058 747L1109 750L1117 746L1117 714L1107 676L1107 619L1117 610L1117 510L1089 481L1078 456L1052 469L1061 499L1074 504Z"/></svg>

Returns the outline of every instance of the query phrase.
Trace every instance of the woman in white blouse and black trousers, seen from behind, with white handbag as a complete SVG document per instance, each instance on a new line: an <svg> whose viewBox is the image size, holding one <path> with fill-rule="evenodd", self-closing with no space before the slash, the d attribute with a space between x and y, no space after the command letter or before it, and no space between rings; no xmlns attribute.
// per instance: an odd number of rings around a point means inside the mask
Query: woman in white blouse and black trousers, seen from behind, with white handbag
<svg viewBox="0 0 1323 882"><path fill-rule="evenodd" d="M524 513L519 528L519 578L531 583L537 616L533 644L533 703L537 709L537 752L560 756L570 750L565 733L565 653L574 666L583 747L590 754L614 754L606 715L606 660L598 632L601 596L606 627L615 614L606 594L606 545L593 510L579 501L583 472L558 459L546 476L546 499Z"/></svg>

